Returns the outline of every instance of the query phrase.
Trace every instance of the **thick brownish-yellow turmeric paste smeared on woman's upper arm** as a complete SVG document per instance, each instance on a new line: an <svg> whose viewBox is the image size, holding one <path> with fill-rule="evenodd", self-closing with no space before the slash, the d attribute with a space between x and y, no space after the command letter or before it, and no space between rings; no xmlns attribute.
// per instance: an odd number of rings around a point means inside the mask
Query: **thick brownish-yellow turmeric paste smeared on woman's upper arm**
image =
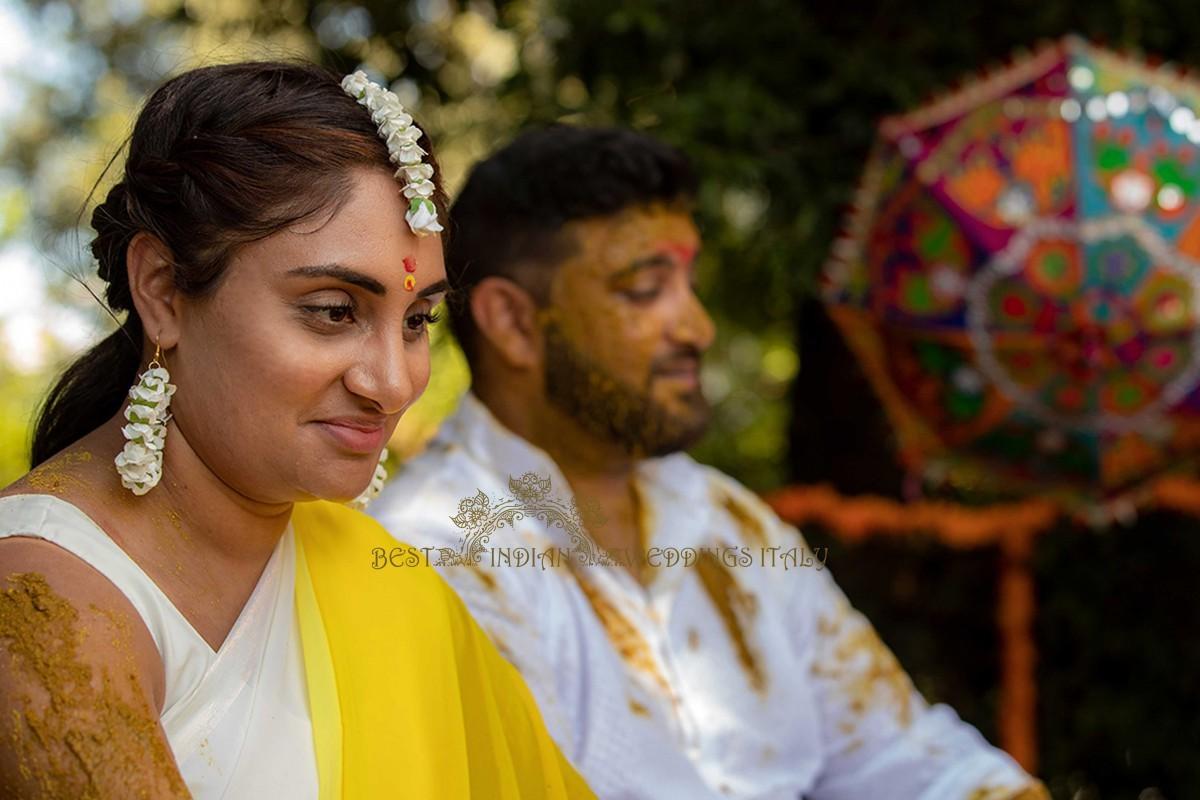
<svg viewBox="0 0 1200 800"><path fill-rule="evenodd" d="M40 694L12 698L0 718L19 772L10 777L23 781L24 796L101 800L120 789L127 798L188 798L139 686L127 622L106 645L128 657L118 674L101 667L97 675L79 652L86 632L76 607L40 573L13 573L7 584L0 651L18 684ZM145 769L148 754L154 770Z"/></svg>

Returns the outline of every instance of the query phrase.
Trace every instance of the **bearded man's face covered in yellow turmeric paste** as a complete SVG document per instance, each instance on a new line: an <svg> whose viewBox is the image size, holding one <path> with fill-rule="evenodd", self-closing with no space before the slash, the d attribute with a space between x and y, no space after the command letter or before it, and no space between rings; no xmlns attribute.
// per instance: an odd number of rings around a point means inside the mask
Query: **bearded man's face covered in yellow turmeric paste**
<svg viewBox="0 0 1200 800"><path fill-rule="evenodd" d="M575 251L544 312L547 399L637 457L690 446L708 423L700 360L713 342L695 293L691 216L635 206L564 234Z"/></svg>

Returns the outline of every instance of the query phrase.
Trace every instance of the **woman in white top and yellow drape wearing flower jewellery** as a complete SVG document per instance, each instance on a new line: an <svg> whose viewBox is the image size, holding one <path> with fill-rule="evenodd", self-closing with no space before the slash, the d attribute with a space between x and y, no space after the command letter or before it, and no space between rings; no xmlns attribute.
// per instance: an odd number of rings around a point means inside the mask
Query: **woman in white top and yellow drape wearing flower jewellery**
<svg viewBox="0 0 1200 800"><path fill-rule="evenodd" d="M92 216L127 318L0 492L0 795L590 796L432 571L310 503L378 489L428 379L428 150L361 73L149 98Z"/></svg>

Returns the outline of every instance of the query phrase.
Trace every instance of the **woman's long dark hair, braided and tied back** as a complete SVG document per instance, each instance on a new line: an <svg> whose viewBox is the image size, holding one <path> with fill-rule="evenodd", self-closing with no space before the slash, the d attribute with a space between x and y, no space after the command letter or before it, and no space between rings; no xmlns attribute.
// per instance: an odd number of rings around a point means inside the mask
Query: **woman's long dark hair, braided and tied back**
<svg viewBox="0 0 1200 800"><path fill-rule="evenodd" d="M420 145L431 151L427 137ZM428 158L434 163L432 151ZM116 414L137 377L144 331L125 263L136 234L167 247L180 291L204 296L240 246L343 203L354 167L390 168L388 148L367 110L323 67L232 64L160 86L133 127L121 180L91 216L104 297L127 317L50 390L34 432L32 465ZM445 218L434 170L433 199Z"/></svg>

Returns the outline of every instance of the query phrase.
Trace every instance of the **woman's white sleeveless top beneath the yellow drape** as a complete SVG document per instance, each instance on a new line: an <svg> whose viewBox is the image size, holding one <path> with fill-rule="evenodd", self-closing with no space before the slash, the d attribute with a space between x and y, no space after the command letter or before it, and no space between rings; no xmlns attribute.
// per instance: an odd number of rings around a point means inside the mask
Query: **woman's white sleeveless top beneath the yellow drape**
<svg viewBox="0 0 1200 800"><path fill-rule="evenodd" d="M137 609L162 657L162 727L196 800L316 800L290 525L216 651L150 576L70 503L46 494L0 498L0 539L14 535L76 554Z"/></svg>

